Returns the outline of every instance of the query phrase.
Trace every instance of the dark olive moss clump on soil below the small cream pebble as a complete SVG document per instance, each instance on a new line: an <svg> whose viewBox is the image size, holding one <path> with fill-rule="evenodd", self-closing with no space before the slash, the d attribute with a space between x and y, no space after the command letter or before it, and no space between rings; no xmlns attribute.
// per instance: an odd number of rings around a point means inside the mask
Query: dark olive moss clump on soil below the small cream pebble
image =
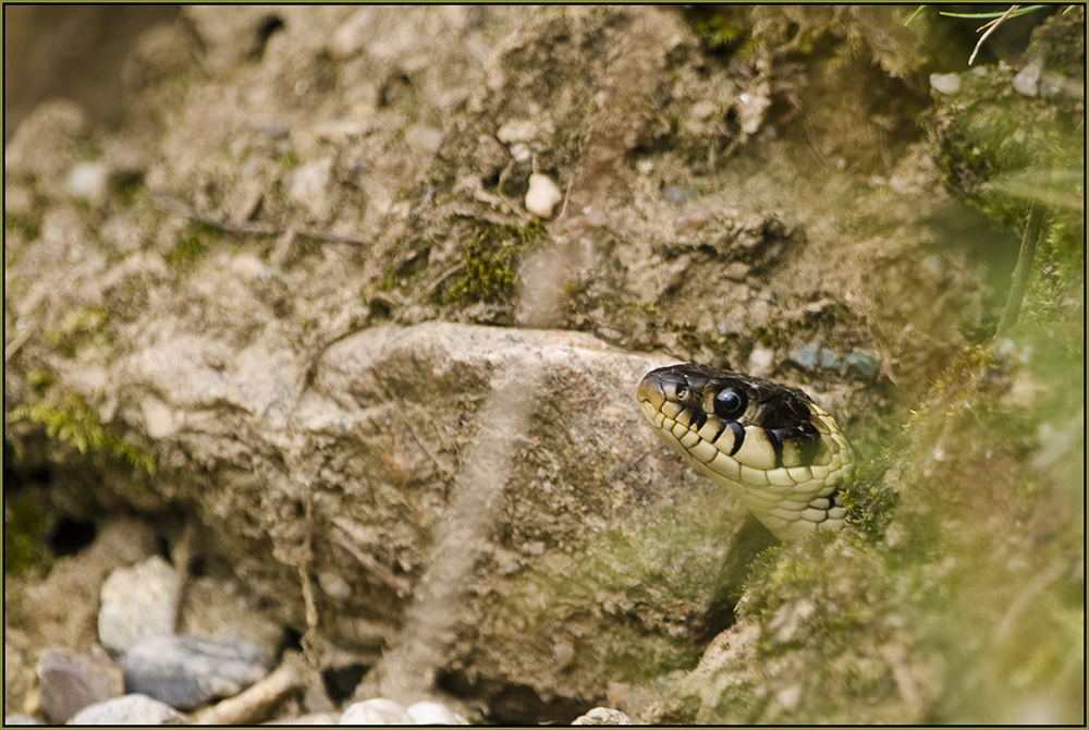
<svg viewBox="0 0 1089 730"><path fill-rule="evenodd" d="M523 227L486 224L465 245L462 269L439 299L445 304L511 301L521 281L522 260L543 233L538 221Z"/></svg>

